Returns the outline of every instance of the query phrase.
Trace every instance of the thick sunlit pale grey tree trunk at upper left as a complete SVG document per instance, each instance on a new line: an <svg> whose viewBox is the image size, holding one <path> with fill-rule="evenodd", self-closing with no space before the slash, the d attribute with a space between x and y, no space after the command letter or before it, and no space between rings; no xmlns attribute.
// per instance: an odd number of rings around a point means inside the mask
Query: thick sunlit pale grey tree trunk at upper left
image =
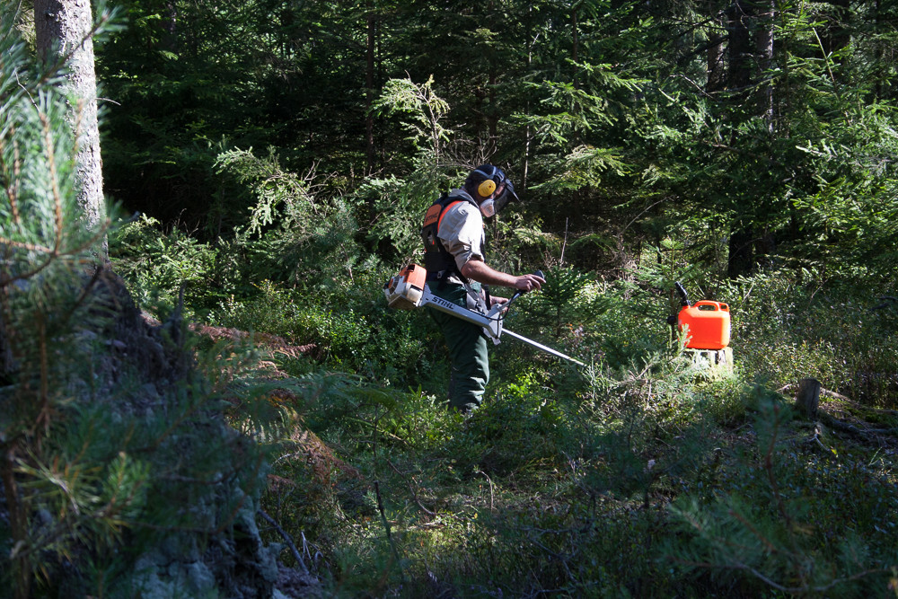
<svg viewBox="0 0 898 599"><path fill-rule="evenodd" d="M91 0L34 0L38 51L47 60L66 59L70 120L78 137L78 203L86 224L99 229L106 221L103 200L100 129L97 124L97 77L93 69ZM105 235L99 260L106 260Z"/></svg>

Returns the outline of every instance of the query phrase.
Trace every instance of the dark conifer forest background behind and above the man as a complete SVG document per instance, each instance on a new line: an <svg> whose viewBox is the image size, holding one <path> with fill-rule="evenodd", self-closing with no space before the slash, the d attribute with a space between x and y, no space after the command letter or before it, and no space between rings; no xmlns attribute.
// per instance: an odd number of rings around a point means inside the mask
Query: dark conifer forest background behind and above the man
<svg viewBox="0 0 898 599"><path fill-rule="evenodd" d="M417 221L405 190L418 210L489 160L585 269L675 236L731 278L887 270L891 4L126 6L99 58L106 187L203 239L245 224L255 200L219 157L252 148L314 170L390 263L413 251L381 223Z"/></svg>

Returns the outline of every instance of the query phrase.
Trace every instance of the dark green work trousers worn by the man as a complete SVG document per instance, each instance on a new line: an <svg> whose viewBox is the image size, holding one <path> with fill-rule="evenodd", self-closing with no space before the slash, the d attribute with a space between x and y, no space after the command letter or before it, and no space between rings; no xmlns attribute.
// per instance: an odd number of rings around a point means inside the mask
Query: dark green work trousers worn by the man
<svg viewBox="0 0 898 599"><path fill-rule="evenodd" d="M461 285L447 283L440 289L438 283L429 284L430 292L445 300L465 306L466 292ZM480 285L473 284L480 293ZM469 412L483 401L483 392L489 383L489 351L483 330L476 324L430 309L430 315L443 330L452 374L449 381L449 406Z"/></svg>

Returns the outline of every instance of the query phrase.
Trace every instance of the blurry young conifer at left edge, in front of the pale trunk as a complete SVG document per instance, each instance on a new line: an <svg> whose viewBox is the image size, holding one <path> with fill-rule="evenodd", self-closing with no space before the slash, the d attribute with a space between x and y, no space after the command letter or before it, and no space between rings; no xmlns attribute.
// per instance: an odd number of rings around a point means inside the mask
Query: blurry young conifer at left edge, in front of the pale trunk
<svg viewBox="0 0 898 599"><path fill-rule="evenodd" d="M0 480L9 517L0 544L13 577L7 587L25 597L41 551L65 554L76 516L100 497L92 485L83 493L92 477L79 464L58 470L48 446L69 399L91 384L71 366L78 325L96 320L86 301L95 281L81 277L104 228L81 218L78 144L59 65L33 59L11 8L0 18ZM71 509L54 514L54 505Z"/></svg>

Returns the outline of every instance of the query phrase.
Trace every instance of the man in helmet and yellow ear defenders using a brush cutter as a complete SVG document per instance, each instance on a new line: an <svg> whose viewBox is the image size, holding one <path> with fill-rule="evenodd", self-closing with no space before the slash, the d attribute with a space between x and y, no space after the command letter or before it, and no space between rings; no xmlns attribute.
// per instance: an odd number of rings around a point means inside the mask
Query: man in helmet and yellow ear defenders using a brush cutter
<svg viewBox="0 0 898 599"><path fill-rule="evenodd" d="M497 214L517 199L514 184L492 164L471 171L462 189L453 189L427 210L421 235L427 286L434 295L468 308L485 308L480 284L539 289L545 280L536 275L515 276L491 269L483 255L483 218ZM491 298L492 304L503 298ZM489 382L487 338L479 326L451 314L430 311L443 330L452 375L449 406L464 413L480 406Z"/></svg>

